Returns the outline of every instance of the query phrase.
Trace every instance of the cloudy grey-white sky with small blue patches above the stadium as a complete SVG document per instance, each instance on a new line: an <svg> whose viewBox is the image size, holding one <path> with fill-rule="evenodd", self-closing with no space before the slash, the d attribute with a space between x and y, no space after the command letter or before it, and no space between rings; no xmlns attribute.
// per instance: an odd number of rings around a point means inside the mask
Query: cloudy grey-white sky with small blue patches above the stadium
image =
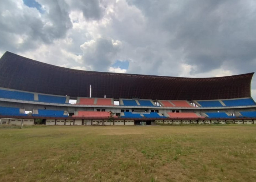
<svg viewBox="0 0 256 182"><path fill-rule="evenodd" d="M0 56L5 51L89 71L255 72L256 1L1 0Z"/></svg>

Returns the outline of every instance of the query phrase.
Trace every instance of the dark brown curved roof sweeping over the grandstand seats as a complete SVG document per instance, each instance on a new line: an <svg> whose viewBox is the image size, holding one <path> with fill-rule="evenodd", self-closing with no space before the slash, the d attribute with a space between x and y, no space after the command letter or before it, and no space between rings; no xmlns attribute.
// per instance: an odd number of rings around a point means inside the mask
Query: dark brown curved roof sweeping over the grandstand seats
<svg viewBox="0 0 256 182"><path fill-rule="evenodd" d="M182 78L81 71L5 52L0 87L71 97L163 100L230 99L251 96L253 73L217 78Z"/></svg>

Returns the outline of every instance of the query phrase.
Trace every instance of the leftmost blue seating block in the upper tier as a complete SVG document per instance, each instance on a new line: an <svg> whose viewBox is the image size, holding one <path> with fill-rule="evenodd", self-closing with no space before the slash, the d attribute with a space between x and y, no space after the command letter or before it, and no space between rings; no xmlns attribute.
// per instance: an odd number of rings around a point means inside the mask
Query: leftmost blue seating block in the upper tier
<svg viewBox="0 0 256 182"><path fill-rule="evenodd" d="M0 90L0 98L34 101L34 94L19 91Z"/></svg>

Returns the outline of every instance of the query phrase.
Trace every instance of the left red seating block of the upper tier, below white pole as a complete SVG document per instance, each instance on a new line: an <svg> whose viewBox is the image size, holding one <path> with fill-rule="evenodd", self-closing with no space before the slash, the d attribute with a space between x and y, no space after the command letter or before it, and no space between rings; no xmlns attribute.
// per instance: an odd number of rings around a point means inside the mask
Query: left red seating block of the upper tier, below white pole
<svg viewBox="0 0 256 182"><path fill-rule="evenodd" d="M80 97L76 104L80 105L98 105L98 106L113 106L114 101L111 98L83 98Z"/></svg>

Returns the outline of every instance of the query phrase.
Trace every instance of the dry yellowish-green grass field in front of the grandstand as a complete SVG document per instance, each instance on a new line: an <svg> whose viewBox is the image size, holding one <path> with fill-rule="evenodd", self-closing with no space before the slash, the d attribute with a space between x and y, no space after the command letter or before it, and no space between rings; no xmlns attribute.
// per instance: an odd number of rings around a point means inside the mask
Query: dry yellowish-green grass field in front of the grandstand
<svg viewBox="0 0 256 182"><path fill-rule="evenodd" d="M0 181L256 181L256 126L0 128Z"/></svg>

